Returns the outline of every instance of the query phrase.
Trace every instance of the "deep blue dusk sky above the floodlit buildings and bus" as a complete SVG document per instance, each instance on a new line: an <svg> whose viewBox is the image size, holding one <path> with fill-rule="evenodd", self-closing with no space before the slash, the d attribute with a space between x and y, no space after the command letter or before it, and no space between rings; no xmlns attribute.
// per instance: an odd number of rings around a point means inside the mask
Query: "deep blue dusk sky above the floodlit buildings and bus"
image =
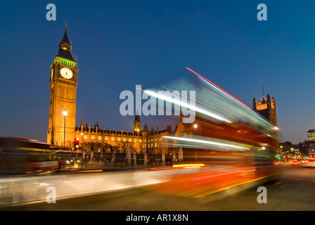
<svg viewBox="0 0 315 225"><path fill-rule="evenodd" d="M46 5L56 5L56 21ZM257 5L268 20L257 20ZM79 67L77 125L132 129L120 92L199 72L252 107L274 95L281 141L315 128L315 1L1 1L0 136L46 142L49 72L68 23ZM165 129L173 120L141 117Z"/></svg>

